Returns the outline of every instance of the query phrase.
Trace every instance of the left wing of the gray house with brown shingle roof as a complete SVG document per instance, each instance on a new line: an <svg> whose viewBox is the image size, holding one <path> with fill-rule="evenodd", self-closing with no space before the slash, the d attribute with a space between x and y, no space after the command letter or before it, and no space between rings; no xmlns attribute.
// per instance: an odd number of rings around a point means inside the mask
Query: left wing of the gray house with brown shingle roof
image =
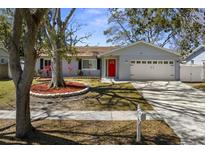
<svg viewBox="0 0 205 154"><path fill-rule="evenodd" d="M98 76L100 77L101 61L99 54L116 49L116 47L77 47L77 55L72 57L71 62L63 60L63 76ZM71 56L71 55L68 55ZM51 76L48 66L51 60L46 54L41 54L37 59L35 70L42 76ZM45 71L42 71L45 70Z"/></svg>

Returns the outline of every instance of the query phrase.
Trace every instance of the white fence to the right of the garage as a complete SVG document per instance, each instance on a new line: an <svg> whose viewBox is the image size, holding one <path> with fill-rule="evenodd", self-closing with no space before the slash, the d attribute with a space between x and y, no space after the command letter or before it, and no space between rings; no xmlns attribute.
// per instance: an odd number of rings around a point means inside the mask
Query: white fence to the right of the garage
<svg viewBox="0 0 205 154"><path fill-rule="evenodd" d="M185 82L203 82L205 81L204 65L180 65L180 80Z"/></svg>

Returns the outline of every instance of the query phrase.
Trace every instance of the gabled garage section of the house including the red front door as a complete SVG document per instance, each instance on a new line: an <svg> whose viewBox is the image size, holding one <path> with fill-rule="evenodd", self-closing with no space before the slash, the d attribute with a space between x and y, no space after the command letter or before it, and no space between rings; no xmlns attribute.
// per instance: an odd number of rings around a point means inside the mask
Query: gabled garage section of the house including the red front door
<svg viewBox="0 0 205 154"><path fill-rule="evenodd" d="M173 51L138 41L104 52L101 77L118 80L179 80L180 57Z"/></svg>

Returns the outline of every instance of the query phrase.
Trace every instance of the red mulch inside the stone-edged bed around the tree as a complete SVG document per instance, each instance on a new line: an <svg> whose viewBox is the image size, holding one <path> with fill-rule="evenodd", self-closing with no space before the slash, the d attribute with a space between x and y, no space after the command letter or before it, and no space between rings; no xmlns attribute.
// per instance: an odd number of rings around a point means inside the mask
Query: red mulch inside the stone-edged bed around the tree
<svg viewBox="0 0 205 154"><path fill-rule="evenodd" d="M31 86L31 91L40 94L56 94L74 92L84 89L86 86L83 83L78 82L66 82L66 87L62 88L48 88L48 84L34 84Z"/></svg>

